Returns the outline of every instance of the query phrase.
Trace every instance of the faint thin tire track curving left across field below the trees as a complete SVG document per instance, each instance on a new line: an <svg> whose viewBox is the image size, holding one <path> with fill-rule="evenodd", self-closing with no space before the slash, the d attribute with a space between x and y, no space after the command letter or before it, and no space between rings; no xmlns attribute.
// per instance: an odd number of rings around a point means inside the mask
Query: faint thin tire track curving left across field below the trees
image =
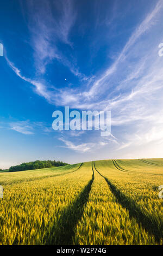
<svg viewBox="0 0 163 256"><path fill-rule="evenodd" d="M40 177L35 177L35 178L24 178L23 180L14 180L14 181L11 181L11 182L1 182L2 185L11 185L11 184L20 184L20 183L23 183L23 182L30 182L30 181L36 181L36 180L43 180L43 178L51 178L51 177L58 177L58 176L63 176L63 175L66 175L66 174L72 174L73 172L75 171L78 171L80 167L82 167L83 163L81 163L79 165L79 167L74 170L74 171L68 171L64 174L52 174L52 175L45 175L45 176L40 176ZM71 170L71 169L70 169Z"/></svg>

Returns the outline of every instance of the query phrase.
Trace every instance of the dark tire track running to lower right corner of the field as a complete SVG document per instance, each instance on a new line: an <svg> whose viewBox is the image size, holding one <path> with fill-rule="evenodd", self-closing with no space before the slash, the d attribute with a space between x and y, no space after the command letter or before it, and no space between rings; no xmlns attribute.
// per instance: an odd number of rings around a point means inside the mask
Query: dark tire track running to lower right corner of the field
<svg viewBox="0 0 163 256"><path fill-rule="evenodd" d="M123 209L128 210L130 218L135 218L137 223L142 225L142 227L149 233L154 235L155 240L160 242L163 236L163 225L160 223L160 227L158 227L158 223L154 222L154 219L146 216L145 213L142 212L139 205L130 197L123 194L120 189L118 189L114 184L112 184L108 178L103 176L95 166L95 161L93 162L95 170L101 175L104 180L108 183L108 186L116 197L117 202L123 207Z"/></svg>

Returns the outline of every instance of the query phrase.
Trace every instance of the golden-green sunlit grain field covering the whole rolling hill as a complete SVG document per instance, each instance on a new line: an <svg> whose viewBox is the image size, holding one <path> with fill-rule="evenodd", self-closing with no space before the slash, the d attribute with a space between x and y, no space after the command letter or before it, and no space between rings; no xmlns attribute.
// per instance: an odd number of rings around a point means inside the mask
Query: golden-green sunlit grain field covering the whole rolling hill
<svg viewBox="0 0 163 256"><path fill-rule="evenodd" d="M162 245L163 159L0 172L0 245Z"/></svg>

